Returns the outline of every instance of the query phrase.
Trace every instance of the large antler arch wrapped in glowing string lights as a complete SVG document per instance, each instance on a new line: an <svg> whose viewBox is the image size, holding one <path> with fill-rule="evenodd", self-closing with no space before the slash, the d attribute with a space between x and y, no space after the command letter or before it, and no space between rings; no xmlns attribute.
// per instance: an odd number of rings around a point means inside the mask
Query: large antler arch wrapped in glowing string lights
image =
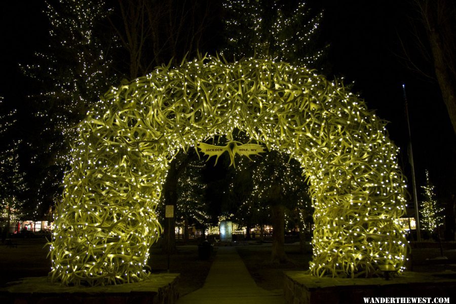
<svg viewBox="0 0 456 304"><path fill-rule="evenodd" d="M405 182L385 124L314 71L204 57L111 88L81 122L56 205L53 280L105 285L147 277L170 160L235 129L301 163L315 207L311 274L403 269Z"/></svg>

